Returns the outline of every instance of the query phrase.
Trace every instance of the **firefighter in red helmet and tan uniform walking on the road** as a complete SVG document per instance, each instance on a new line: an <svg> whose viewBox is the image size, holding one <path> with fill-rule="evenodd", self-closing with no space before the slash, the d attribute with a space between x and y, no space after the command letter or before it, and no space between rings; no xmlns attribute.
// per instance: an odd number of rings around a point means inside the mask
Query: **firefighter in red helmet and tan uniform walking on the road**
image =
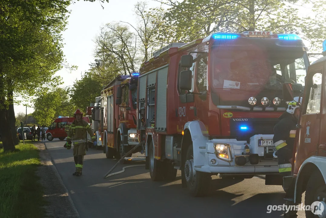
<svg viewBox="0 0 326 218"><path fill-rule="evenodd" d="M92 136L92 141L96 145L95 136L90 125L82 119L82 112L77 109L74 114L75 120L71 123L69 131L67 133L67 142L65 147L67 149L71 148L71 143L74 144L73 155L76 166L76 171L72 174L74 176L82 175L83 159L86 155L87 149L87 134Z"/></svg>

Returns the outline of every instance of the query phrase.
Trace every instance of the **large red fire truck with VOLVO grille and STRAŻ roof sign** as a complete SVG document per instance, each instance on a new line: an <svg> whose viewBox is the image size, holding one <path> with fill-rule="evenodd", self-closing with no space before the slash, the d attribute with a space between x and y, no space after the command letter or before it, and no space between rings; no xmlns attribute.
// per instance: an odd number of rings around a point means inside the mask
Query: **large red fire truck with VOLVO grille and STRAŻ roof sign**
<svg viewBox="0 0 326 218"><path fill-rule="evenodd" d="M273 128L286 110L282 84L303 92L308 49L295 34L214 33L171 44L140 67L137 131L151 179L174 180L192 196L212 175L279 178Z"/></svg>

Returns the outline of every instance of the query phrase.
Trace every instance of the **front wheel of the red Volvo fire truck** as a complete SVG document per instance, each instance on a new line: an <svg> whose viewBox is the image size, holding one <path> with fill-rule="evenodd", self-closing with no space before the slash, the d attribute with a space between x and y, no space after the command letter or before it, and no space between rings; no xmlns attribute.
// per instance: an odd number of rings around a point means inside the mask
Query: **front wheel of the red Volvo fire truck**
<svg viewBox="0 0 326 218"><path fill-rule="evenodd" d="M187 188L191 196L205 196L209 191L211 175L209 173L195 171L192 143L188 147L184 169Z"/></svg>

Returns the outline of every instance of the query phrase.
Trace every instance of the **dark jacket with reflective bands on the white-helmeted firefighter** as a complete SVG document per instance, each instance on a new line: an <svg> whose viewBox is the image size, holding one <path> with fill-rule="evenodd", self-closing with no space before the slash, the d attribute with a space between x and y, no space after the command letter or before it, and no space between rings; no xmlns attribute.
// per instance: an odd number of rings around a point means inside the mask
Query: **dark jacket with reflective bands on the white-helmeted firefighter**
<svg viewBox="0 0 326 218"><path fill-rule="evenodd" d="M284 113L280 121L274 126L273 143L277 150L278 170L280 173L290 173L296 124L298 120L291 114Z"/></svg>

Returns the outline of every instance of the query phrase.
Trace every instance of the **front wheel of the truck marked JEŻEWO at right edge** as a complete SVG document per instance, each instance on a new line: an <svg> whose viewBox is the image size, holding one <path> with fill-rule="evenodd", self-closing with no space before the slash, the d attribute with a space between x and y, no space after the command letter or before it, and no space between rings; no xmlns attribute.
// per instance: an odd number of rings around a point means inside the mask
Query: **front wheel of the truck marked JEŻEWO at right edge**
<svg viewBox="0 0 326 218"><path fill-rule="evenodd" d="M320 198L318 199L318 197ZM313 172L313 174L308 180L306 193L304 197L304 204L311 205L315 201L320 201L324 206L324 211L322 212L322 216L320 217L325 217L326 202L323 201L323 198L325 197L326 197L326 184L319 170L316 170L315 172ZM314 213L312 213L312 211L307 211L307 210L305 211L305 215L306 218L318 217L318 215L315 215Z"/></svg>

